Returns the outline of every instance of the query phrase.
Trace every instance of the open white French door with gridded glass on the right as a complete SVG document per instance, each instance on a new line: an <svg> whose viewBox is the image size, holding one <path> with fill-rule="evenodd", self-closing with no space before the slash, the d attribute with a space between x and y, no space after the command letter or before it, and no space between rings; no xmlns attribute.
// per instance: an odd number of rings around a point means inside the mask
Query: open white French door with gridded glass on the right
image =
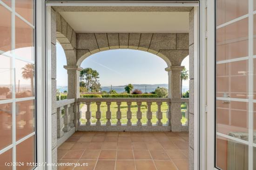
<svg viewBox="0 0 256 170"><path fill-rule="evenodd" d="M215 3L208 6L208 169L256 170L256 0Z"/></svg>

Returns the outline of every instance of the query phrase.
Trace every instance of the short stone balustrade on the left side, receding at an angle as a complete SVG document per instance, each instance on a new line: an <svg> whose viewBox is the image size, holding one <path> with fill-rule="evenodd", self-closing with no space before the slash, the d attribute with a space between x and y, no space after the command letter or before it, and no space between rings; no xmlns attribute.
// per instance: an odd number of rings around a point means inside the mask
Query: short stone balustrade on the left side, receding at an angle
<svg viewBox="0 0 256 170"><path fill-rule="evenodd" d="M74 132L76 114L74 110L77 107L74 99L65 99L56 102L57 107L57 145L61 145ZM79 106L78 106L79 107Z"/></svg>

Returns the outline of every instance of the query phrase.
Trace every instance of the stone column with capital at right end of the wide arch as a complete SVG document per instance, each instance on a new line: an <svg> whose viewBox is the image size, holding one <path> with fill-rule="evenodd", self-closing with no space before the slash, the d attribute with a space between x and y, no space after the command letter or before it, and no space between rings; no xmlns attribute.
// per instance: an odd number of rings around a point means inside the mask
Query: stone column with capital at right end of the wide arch
<svg viewBox="0 0 256 170"><path fill-rule="evenodd" d="M169 76L169 94L171 99L181 98L181 71L184 66L169 66L165 70L168 71ZM182 113L181 102L171 101L171 129L173 132L182 131Z"/></svg>

